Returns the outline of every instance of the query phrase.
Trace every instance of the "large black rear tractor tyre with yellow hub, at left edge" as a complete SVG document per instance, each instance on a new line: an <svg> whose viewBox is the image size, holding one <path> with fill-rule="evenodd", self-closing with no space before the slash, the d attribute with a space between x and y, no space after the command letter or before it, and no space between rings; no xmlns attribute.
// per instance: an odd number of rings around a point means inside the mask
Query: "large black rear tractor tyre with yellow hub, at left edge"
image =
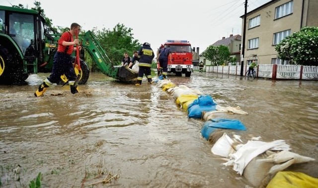
<svg viewBox="0 0 318 188"><path fill-rule="evenodd" d="M22 84L28 76L24 73L18 52L13 47L5 48L0 44L0 84Z"/></svg>

